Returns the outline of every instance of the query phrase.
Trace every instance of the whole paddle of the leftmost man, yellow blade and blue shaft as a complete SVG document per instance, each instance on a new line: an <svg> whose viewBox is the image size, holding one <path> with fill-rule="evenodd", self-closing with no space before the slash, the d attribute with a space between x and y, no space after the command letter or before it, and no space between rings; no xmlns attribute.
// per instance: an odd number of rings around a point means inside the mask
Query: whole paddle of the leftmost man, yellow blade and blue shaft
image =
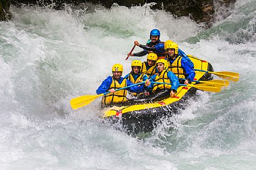
<svg viewBox="0 0 256 170"><path fill-rule="evenodd" d="M127 89L127 88L131 88L132 86L136 86L136 85L140 85L140 84L144 84L144 83L145 83L145 81L139 82L139 83L133 84L131 86L127 86L127 87L124 87L124 88L117 89L115 91L124 90L124 89ZM83 106L85 106L87 104L90 104L96 98L99 98L99 96L103 96L103 95L106 95L106 94L109 94L109 93L110 93L110 91L108 91L106 93L99 94L99 95L84 95L84 96L79 96L77 98L73 98L73 99L70 100L71 108L72 109L82 108Z"/></svg>

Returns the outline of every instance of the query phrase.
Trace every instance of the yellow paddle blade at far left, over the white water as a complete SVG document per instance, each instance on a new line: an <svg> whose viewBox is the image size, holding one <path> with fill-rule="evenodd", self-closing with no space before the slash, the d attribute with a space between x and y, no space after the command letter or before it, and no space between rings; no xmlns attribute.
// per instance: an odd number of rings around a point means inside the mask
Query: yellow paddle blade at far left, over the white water
<svg viewBox="0 0 256 170"><path fill-rule="evenodd" d="M84 96L79 96L77 98L73 98L73 99L70 100L71 108L72 109L82 108L83 106L85 106L87 104L90 104L96 98L99 98L99 96L103 96L103 94L99 94L99 95L84 95Z"/></svg>

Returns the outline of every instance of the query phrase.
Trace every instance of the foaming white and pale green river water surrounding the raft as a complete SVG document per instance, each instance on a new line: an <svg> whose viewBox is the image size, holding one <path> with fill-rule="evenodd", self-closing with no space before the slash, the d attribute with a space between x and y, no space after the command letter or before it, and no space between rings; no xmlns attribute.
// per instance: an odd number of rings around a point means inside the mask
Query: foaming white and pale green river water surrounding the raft
<svg viewBox="0 0 256 170"><path fill-rule="evenodd" d="M256 169L256 1L237 1L208 30L145 6L11 12L0 22L0 169ZM113 64L130 71L126 54L153 28L240 80L198 91L147 134L103 123L100 99L72 110L70 99L95 94Z"/></svg>

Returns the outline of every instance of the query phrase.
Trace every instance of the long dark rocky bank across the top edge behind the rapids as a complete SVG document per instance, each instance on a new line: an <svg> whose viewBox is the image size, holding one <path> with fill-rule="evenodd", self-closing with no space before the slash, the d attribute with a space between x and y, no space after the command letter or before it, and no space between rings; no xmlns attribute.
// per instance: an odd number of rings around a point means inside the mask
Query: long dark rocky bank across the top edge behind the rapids
<svg viewBox="0 0 256 170"><path fill-rule="evenodd" d="M3 1L3 0L1 0ZM229 9L234 7L235 0L13 0L13 4L36 4L39 6L49 6L54 9L63 9L64 4L77 5L80 3L101 4L110 8L113 3L120 6L139 6L145 3L156 2L151 9L163 9L169 11L175 17L189 16L197 23L205 23L206 27L211 27L216 16L221 14L225 18L229 16Z"/></svg>

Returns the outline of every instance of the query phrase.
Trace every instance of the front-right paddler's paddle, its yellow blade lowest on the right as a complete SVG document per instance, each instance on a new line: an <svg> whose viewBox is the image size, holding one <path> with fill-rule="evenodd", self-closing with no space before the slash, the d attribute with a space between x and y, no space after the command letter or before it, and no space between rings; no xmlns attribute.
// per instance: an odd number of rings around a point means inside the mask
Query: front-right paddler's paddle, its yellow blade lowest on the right
<svg viewBox="0 0 256 170"><path fill-rule="evenodd" d="M150 82L153 84L171 85L170 83L165 83L165 82L154 82L154 81L150 81ZM180 84L179 86L187 86L187 87L196 88L196 89L203 90L203 91L211 91L211 92L220 92L221 91L221 85L219 85L219 84L196 84L196 85Z"/></svg>

